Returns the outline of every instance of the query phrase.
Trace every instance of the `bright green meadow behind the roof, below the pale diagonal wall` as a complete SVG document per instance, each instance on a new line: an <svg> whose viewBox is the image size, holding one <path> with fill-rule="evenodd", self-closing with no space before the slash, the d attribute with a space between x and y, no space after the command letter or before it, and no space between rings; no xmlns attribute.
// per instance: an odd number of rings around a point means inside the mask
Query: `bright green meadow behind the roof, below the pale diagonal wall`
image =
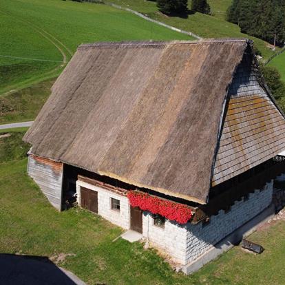
<svg viewBox="0 0 285 285"><path fill-rule="evenodd" d="M140 39L190 39L105 5L61 0L14 0L0 2L0 55L62 61L59 49L43 34L48 32L63 45L63 52L75 52L81 43ZM46 34L45 34L46 36ZM48 36L52 39L51 36ZM54 41L54 39L52 39ZM60 63L0 57L0 94L43 78ZM50 76L59 74L60 70Z"/></svg>

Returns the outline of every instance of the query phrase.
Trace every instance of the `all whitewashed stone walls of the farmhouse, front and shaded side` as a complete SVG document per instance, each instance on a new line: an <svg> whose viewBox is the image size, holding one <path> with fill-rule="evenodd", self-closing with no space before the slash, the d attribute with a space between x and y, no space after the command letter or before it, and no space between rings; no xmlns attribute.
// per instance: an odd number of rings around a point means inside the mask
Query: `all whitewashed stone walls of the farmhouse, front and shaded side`
<svg viewBox="0 0 285 285"><path fill-rule="evenodd" d="M127 197L78 180L76 190L79 205L81 186L98 192L99 215L123 229L129 229L130 208ZM211 216L207 224L180 225L165 220L165 227L162 228L156 226L151 213L145 211L142 215L142 235L152 246L171 256L174 262L186 265L266 209L271 204L272 193L273 181L267 183L262 191L255 190L248 198L236 201L230 211L225 213L220 210L218 215ZM120 200L120 212L111 209L111 198Z"/></svg>

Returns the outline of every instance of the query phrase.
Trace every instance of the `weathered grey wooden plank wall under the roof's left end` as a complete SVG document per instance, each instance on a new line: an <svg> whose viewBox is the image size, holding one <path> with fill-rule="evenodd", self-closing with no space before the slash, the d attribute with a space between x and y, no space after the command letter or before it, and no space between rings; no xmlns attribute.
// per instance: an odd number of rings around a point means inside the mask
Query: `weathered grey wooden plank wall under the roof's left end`
<svg viewBox="0 0 285 285"><path fill-rule="evenodd" d="M61 211L63 163L30 154L28 175L39 185L52 206Z"/></svg>

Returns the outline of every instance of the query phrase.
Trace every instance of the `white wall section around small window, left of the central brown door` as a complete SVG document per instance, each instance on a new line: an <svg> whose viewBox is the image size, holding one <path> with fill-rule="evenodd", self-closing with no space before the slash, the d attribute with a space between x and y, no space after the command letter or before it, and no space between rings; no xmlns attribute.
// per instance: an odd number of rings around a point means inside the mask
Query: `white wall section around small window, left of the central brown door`
<svg viewBox="0 0 285 285"><path fill-rule="evenodd" d="M103 218L116 224L123 229L129 229L129 200L125 196L120 196L112 191L108 191L92 184L76 181L77 200L80 206L80 187L85 187L98 192L98 214ZM120 211L111 209L111 198L120 200Z"/></svg>

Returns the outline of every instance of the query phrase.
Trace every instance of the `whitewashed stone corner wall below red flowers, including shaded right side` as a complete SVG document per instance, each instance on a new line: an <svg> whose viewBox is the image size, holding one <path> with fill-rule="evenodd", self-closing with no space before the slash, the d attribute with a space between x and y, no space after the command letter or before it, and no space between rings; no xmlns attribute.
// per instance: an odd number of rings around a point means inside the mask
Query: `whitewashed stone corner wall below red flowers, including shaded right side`
<svg viewBox="0 0 285 285"><path fill-rule="evenodd" d="M142 234L148 237L149 242L155 247L171 255L174 261L186 265L266 209L271 204L272 191L273 181L267 183L262 191L255 190L254 193L250 193L249 200L235 202L231 211L225 213L221 210L204 226L202 223L180 226L175 222L166 221L165 229L161 229L154 225L151 215L145 213Z"/></svg>

